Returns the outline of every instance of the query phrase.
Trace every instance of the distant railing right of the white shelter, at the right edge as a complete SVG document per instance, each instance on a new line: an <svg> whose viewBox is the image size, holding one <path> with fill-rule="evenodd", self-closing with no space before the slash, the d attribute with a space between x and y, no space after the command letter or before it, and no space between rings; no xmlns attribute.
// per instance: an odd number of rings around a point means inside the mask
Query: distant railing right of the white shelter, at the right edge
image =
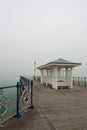
<svg viewBox="0 0 87 130"><path fill-rule="evenodd" d="M87 78L86 77L73 77L73 85L74 86L87 86Z"/></svg>

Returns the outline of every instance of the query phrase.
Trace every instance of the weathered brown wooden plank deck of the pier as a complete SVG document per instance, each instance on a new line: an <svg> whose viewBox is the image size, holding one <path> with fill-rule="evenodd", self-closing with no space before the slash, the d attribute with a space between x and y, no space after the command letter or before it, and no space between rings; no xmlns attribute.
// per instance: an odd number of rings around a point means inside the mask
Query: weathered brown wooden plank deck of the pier
<svg viewBox="0 0 87 130"><path fill-rule="evenodd" d="M54 90L34 82L33 92L35 108L0 130L87 130L87 87Z"/></svg>

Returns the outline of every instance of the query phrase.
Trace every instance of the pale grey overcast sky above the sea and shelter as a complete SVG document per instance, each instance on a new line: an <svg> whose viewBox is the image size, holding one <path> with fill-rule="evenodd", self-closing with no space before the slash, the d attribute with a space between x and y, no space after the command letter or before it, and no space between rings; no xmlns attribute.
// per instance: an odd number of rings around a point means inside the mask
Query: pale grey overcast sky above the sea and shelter
<svg viewBox="0 0 87 130"><path fill-rule="evenodd" d="M0 0L0 75L64 58L87 76L87 0Z"/></svg>

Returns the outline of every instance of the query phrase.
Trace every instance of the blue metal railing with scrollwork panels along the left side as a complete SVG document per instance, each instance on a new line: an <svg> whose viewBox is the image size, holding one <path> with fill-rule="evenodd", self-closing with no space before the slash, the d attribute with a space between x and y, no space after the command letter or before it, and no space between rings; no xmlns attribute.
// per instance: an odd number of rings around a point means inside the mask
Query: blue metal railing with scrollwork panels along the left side
<svg viewBox="0 0 87 130"><path fill-rule="evenodd" d="M16 85L0 87L0 125L13 116L19 118L28 108L33 108L32 80L20 76Z"/></svg>

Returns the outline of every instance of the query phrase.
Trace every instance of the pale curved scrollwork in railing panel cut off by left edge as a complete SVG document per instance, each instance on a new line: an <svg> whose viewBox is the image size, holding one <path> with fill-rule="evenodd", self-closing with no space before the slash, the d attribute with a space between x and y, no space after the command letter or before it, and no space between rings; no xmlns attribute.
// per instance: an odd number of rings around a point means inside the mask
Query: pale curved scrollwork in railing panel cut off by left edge
<svg viewBox="0 0 87 130"><path fill-rule="evenodd" d="M0 96L0 116L4 116L8 110L8 100L4 96Z"/></svg>

